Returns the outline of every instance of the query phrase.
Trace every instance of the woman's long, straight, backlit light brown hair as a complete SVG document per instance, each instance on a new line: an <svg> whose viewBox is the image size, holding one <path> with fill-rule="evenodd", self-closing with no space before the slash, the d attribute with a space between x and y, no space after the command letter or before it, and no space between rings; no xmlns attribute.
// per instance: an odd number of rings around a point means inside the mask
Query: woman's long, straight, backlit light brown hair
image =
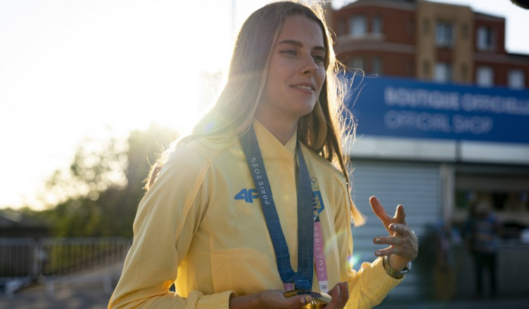
<svg viewBox="0 0 529 309"><path fill-rule="evenodd" d="M311 150L335 164L342 171L349 187L348 157L343 155L342 149L343 138L347 136L342 117L345 87L338 77L343 74L343 65L336 60L331 32L319 4L305 6L295 1L279 1L252 13L238 33L226 86L210 112L198 121L191 135L182 140L202 136L223 138L233 133L241 136L250 128L265 88L273 46L286 18L293 15L301 15L317 22L324 34L326 49L326 79L314 110L298 121L298 138ZM351 131L350 136L353 136L354 125ZM166 150L151 167L146 190L151 188L167 160L167 152ZM353 221L356 225L361 225L364 217L352 203L350 195L349 199Z"/></svg>

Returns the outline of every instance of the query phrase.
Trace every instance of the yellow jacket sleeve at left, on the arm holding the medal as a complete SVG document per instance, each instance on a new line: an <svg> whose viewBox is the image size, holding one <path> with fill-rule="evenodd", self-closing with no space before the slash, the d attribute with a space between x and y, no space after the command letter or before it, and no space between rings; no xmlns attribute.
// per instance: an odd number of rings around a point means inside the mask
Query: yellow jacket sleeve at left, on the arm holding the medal
<svg viewBox="0 0 529 309"><path fill-rule="evenodd" d="M200 155L175 150L141 200L134 240L108 308L229 308L232 291L180 296L169 289L208 204Z"/></svg>

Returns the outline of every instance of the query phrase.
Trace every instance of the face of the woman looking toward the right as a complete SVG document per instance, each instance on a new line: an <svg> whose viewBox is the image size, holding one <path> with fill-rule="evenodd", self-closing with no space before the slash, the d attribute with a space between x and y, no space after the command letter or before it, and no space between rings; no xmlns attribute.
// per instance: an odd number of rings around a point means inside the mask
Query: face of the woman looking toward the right
<svg viewBox="0 0 529 309"><path fill-rule="evenodd" d="M302 15L286 18L272 46L267 79L257 113L275 121L295 121L312 112L325 81L324 34Z"/></svg>

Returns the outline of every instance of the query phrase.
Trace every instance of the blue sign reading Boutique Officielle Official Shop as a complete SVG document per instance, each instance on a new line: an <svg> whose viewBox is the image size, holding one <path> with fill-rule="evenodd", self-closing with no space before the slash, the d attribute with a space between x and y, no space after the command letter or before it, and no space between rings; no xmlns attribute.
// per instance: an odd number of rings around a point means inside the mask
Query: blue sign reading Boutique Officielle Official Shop
<svg viewBox="0 0 529 309"><path fill-rule="evenodd" d="M355 81L361 77L355 77ZM529 91L366 77L345 104L357 135L529 143Z"/></svg>

